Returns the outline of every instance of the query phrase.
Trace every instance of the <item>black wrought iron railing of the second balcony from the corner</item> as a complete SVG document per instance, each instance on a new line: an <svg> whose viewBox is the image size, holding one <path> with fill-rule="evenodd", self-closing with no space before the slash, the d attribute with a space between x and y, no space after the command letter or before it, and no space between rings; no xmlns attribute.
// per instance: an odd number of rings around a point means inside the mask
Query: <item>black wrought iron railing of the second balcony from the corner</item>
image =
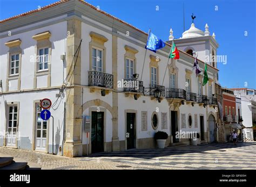
<svg viewBox="0 0 256 187"><path fill-rule="evenodd" d="M133 78L124 78L124 91L143 93L143 81L134 80Z"/></svg>

